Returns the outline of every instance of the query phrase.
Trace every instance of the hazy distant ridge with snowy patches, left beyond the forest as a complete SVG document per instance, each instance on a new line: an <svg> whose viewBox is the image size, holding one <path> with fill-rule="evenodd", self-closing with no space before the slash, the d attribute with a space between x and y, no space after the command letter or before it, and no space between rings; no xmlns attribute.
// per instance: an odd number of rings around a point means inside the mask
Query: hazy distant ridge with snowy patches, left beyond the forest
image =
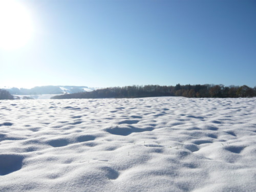
<svg viewBox="0 0 256 192"><path fill-rule="evenodd" d="M40 86L31 89L25 88L2 88L12 95L42 95L42 94L72 94L79 92L91 92L96 88L89 88L86 86Z"/></svg>

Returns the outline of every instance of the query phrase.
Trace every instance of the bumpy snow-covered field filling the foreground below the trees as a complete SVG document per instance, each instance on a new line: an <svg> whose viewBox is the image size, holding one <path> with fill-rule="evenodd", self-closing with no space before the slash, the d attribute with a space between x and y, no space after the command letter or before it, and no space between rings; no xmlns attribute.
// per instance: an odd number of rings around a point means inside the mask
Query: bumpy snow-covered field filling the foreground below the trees
<svg viewBox="0 0 256 192"><path fill-rule="evenodd" d="M256 191L256 98L1 100L0 191Z"/></svg>

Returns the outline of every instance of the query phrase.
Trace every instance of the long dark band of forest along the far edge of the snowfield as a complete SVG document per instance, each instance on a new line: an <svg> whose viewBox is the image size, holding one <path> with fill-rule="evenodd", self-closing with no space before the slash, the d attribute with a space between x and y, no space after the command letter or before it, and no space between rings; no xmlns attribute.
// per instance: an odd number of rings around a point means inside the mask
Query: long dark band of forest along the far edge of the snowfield
<svg viewBox="0 0 256 192"><path fill-rule="evenodd" d="M98 89L92 92L73 93L57 95L52 99L92 99L92 98L137 98L137 97L160 97L160 96L183 96L183 97L218 97L218 98L237 98L255 97L256 86L229 86L223 84L186 84L182 86L126 86Z"/></svg>

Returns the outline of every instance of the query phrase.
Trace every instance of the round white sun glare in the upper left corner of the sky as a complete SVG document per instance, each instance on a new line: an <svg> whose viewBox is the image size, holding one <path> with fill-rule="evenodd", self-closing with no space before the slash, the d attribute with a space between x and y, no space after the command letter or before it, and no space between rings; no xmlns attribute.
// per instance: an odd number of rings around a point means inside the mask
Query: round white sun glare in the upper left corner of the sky
<svg viewBox="0 0 256 192"><path fill-rule="evenodd" d="M14 0L0 0L0 48L21 48L32 33L32 20L26 7Z"/></svg>

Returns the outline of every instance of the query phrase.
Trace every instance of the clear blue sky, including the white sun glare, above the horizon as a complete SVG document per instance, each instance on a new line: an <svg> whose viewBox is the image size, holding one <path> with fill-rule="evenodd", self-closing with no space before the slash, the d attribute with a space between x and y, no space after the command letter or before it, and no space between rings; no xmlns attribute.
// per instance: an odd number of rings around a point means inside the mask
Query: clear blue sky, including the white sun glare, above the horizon
<svg viewBox="0 0 256 192"><path fill-rule="evenodd" d="M256 1L1 2L0 87L256 86Z"/></svg>

